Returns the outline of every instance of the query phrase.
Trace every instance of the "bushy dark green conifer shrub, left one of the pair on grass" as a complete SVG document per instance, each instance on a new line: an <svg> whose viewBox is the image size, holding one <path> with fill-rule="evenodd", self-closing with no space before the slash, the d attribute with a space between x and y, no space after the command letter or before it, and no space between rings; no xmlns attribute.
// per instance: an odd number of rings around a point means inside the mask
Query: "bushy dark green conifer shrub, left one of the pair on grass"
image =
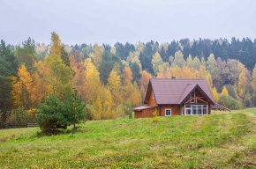
<svg viewBox="0 0 256 169"><path fill-rule="evenodd" d="M46 134L56 134L60 129L66 129L70 125L64 103L54 95L49 95L39 107L37 122L42 132Z"/></svg>

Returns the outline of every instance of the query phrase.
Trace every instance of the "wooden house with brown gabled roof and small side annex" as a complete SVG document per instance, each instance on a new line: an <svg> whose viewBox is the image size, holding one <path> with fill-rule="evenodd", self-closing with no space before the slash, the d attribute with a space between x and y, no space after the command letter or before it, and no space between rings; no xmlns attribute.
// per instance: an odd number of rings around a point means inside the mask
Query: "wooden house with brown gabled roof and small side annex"
<svg viewBox="0 0 256 169"><path fill-rule="evenodd" d="M135 118L211 114L215 101L205 79L153 78L144 104L133 108Z"/></svg>

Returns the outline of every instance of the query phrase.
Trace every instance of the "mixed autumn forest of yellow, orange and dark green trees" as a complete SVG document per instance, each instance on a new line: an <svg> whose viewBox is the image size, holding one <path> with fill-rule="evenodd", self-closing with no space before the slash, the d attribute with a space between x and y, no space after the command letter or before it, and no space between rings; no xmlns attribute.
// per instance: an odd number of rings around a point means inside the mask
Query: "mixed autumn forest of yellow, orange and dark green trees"
<svg viewBox="0 0 256 169"><path fill-rule="evenodd" d="M30 121L52 96L63 106L81 99L88 120L131 117L153 77L205 78L220 104L255 107L255 63L256 40L249 38L65 45L53 32L49 45L1 40L0 120Z"/></svg>

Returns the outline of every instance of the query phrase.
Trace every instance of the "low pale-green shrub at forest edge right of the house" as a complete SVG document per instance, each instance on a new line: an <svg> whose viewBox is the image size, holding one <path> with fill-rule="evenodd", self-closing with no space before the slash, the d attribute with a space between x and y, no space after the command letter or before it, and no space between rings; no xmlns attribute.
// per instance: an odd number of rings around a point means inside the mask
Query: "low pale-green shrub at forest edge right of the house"
<svg viewBox="0 0 256 169"><path fill-rule="evenodd" d="M230 96L220 95L220 99L218 101L222 106L228 107L230 109L239 109L242 108L242 104L237 99L233 99Z"/></svg>

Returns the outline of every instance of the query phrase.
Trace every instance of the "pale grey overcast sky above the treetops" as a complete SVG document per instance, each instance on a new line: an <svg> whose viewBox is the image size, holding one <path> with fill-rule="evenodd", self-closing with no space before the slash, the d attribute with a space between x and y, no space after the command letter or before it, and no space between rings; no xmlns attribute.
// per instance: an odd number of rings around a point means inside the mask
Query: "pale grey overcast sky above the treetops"
<svg viewBox="0 0 256 169"><path fill-rule="evenodd" d="M0 0L0 39L65 44L256 38L255 0Z"/></svg>

